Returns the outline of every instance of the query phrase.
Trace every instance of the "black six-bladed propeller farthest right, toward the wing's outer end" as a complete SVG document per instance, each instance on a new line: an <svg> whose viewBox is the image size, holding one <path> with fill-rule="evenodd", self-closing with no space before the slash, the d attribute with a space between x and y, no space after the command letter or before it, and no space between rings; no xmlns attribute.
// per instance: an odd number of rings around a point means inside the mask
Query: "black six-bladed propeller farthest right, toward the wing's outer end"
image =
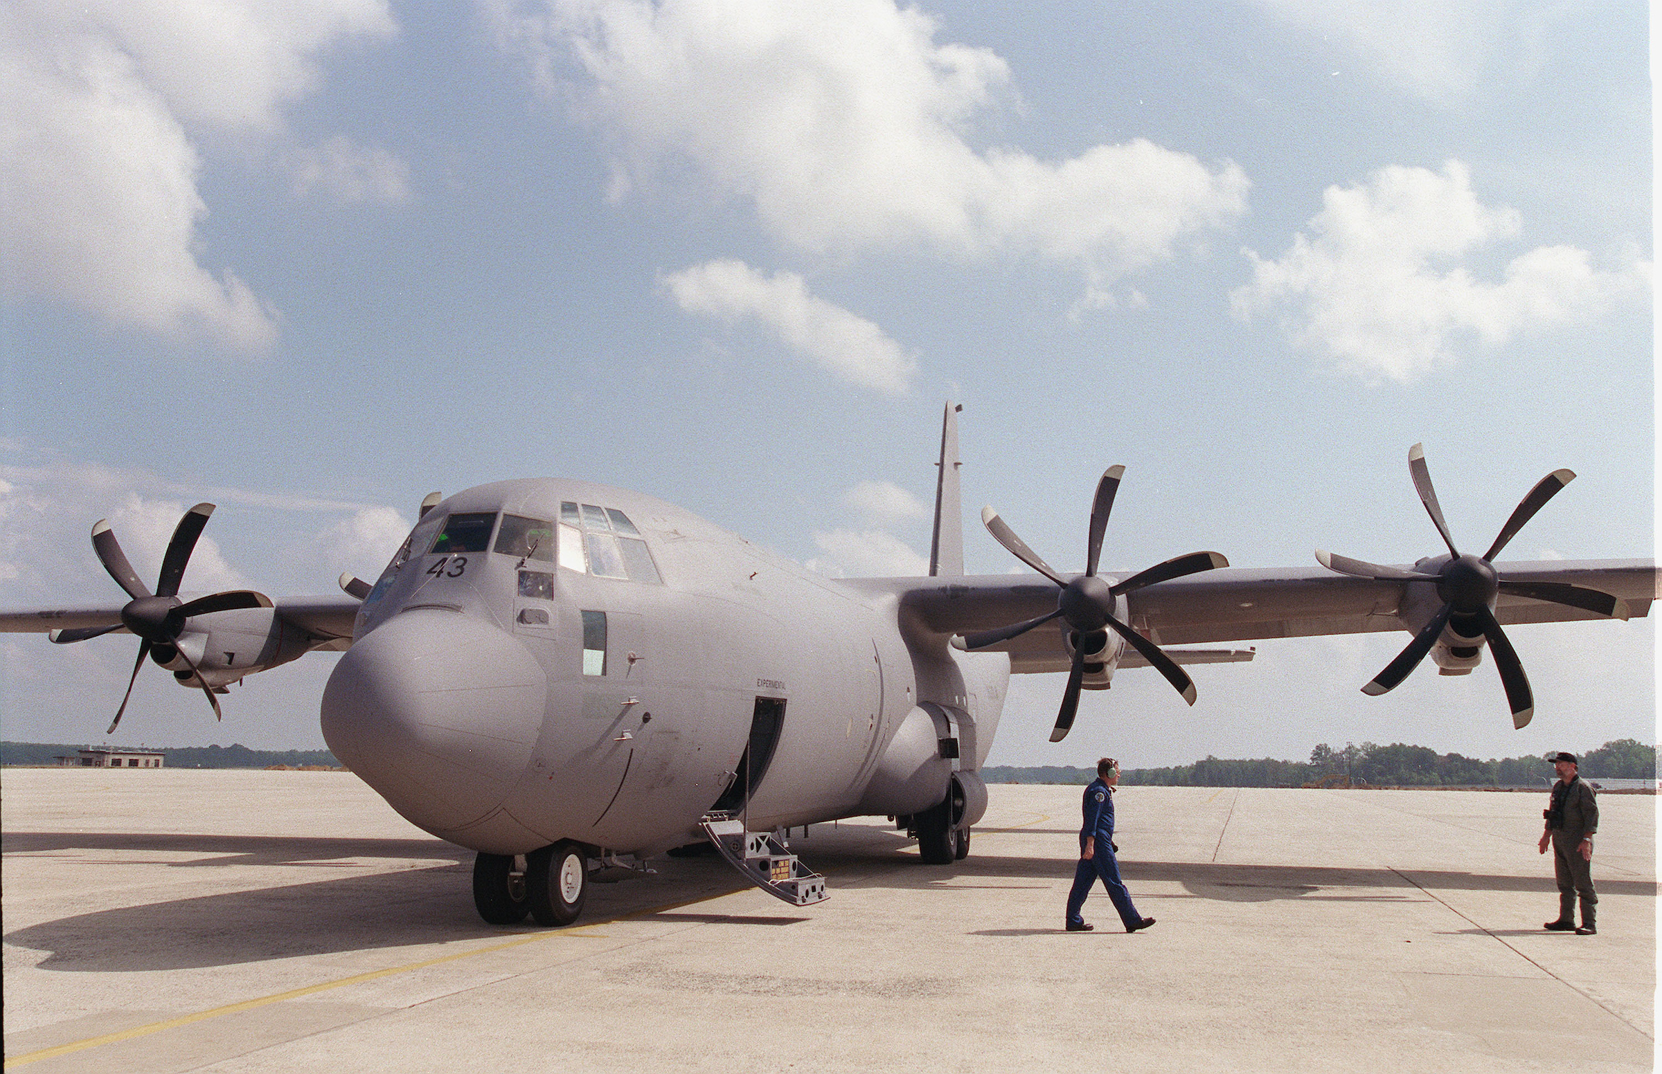
<svg viewBox="0 0 1662 1074"><path fill-rule="evenodd" d="M1512 642L1507 641L1506 631L1501 629L1501 622L1494 618L1494 603L1499 594L1512 593L1537 601L1567 604L1601 616L1610 616L1612 619L1627 619L1629 614L1627 604L1609 593L1557 583L1511 581L1494 569L1492 559L1501 554L1501 549L1517 536L1517 531L1534 518L1536 511L1546 506L1547 500L1576 478L1576 473L1571 470L1554 470L1541 478L1529 490L1529 495L1517 503L1517 508L1512 510L1512 516L1501 526L1501 533L1494 538L1489 551L1483 556L1471 556L1461 554L1454 548L1448 523L1443 520L1443 508L1438 505L1438 491L1431 486L1426 452L1418 443L1408 450L1408 471L1414 478L1414 490L1419 493L1419 501L1431 516L1431 525L1438 528L1438 535L1449 549L1448 561L1436 568L1434 574L1363 563L1361 559L1335 556L1320 548L1316 549L1316 561L1330 571L1381 581L1433 584L1436 586L1438 598L1443 601L1443 606L1431 616L1431 621L1414 634L1414 639L1408 642L1394 661L1384 666L1384 671L1374 676L1368 686L1361 687L1361 692L1378 697L1396 687L1396 684L1419 666L1419 661L1426 659L1426 654L1431 652L1443 631L1453 626L1454 632L1461 637L1476 641L1483 636L1489 641L1489 649L1494 651L1494 669L1501 674L1501 686L1506 687L1506 702L1512 709L1512 725L1522 729L1536 712L1536 701L1534 692L1529 689L1529 676L1524 674L1524 666L1517 659Z"/></svg>

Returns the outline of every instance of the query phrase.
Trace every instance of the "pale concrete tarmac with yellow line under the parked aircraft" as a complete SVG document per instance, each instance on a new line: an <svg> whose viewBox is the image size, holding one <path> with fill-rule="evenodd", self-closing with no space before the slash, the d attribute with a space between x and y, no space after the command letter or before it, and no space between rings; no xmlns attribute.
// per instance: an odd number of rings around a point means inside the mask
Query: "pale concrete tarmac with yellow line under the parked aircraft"
<svg viewBox="0 0 1662 1074"><path fill-rule="evenodd" d="M1064 933L1075 787L991 788L971 857L881 818L492 928L472 855L351 774L7 769L5 1067L1649 1071L1655 797L1601 797L1599 935L1547 933L1542 793L1128 787Z"/></svg>

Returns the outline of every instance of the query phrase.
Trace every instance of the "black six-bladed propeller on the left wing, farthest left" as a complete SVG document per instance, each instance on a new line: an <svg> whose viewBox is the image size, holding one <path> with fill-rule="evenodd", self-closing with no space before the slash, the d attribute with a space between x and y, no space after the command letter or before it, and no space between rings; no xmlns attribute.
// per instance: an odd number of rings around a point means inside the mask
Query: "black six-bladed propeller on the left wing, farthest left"
<svg viewBox="0 0 1662 1074"><path fill-rule="evenodd" d="M58 644L70 644L120 631L123 626L138 634L138 659L133 662L133 676L126 681L126 694L121 696L121 707L116 709L115 720L110 722L110 730L105 734L115 734L116 725L121 722L121 714L126 712L126 702L133 697L138 669L145 666L145 657L151 654L156 654L156 662L160 664L170 662L173 656L184 661L184 666L196 677L196 684L203 687L208 704L213 705L214 719L221 717L219 701L208 689L208 684L203 682L201 672L191 657L176 644L179 634L184 632L184 621L191 616L203 616L213 611L271 608L271 598L251 589L229 589L224 593L209 593L194 601L179 601L178 593L179 581L184 578L184 566L191 559L191 551L196 549L196 538L201 536L209 515L213 515L213 505L198 503L179 518L179 525L173 530L173 538L168 541L168 551L161 558L161 574L156 578L155 594L145 588L133 564L128 563L126 553L121 551L121 543L115 539L115 531L110 530L110 523L100 518L98 525L93 526L93 551L98 554L98 563L110 573L115 584L121 586L133 599L121 608L121 626L53 631L50 637Z"/></svg>

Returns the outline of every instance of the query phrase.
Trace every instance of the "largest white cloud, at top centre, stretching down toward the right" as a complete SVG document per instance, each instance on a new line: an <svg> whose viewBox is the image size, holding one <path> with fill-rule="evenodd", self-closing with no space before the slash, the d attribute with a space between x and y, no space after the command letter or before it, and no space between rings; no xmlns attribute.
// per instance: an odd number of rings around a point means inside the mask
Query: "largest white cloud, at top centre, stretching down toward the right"
<svg viewBox="0 0 1662 1074"><path fill-rule="evenodd" d="M612 196L698 176L786 244L922 247L1082 267L1094 292L1232 224L1233 163L1145 139L1067 159L977 148L1007 95L987 48L894 0L500 0L505 46L612 151ZM1105 304L1095 299L1092 304Z"/></svg>

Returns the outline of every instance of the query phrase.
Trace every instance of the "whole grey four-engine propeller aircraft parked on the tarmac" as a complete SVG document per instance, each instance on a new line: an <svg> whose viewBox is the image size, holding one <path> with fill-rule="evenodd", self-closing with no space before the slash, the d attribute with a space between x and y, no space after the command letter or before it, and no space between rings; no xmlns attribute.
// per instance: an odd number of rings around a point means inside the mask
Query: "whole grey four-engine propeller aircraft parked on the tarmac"
<svg viewBox="0 0 1662 1074"><path fill-rule="evenodd" d="M1461 554L1419 445L1409 471L1448 554L1408 568L1318 551L1321 569L1235 569L1203 551L1100 574L1114 466L1084 574L1049 566L987 508L992 536L1040 578L966 576L956 413L947 403L927 578L833 581L652 496L519 480L434 493L374 586L342 576L334 598L181 598L206 503L179 521L153 594L100 521L93 548L131 599L0 613L0 631L138 634L135 679L148 656L216 714L216 694L253 672L344 651L322 696L334 755L412 823L477 852L485 921L565 925L598 868L700 842L773 895L819 901L824 878L784 835L841 817L892 817L924 863L964 858L1010 674L1067 672L1059 742L1080 691L1117 669L1153 667L1193 704L1183 664L1251 657L1160 646L1406 629L1365 692L1428 654L1468 674L1487 646L1522 727L1534 701L1502 624L1644 616L1657 593L1650 559L1492 563L1569 470L1536 485L1487 553Z"/></svg>

